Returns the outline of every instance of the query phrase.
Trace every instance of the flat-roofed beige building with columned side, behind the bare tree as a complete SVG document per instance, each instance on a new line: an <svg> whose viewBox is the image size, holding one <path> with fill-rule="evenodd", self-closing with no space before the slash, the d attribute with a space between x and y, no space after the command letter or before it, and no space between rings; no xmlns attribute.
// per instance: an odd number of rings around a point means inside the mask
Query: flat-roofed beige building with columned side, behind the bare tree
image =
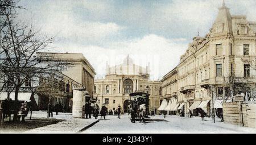
<svg viewBox="0 0 256 145"><path fill-rule="evenodd" d="M53 105L58 102L62 103L64 106L68 106L72 109L72 96L74 88L83 88L86 90L86 94L93 98L93 83L94 68L90 65L89 61L85 59L82 53L48 53L48 52L38 52L38 57L45 58L43 63L60 63L64 64L61 70L61 75L63 75L62 80L59 80L60 84L64 83L63 90L56 95L52 101ZM89 98L89 99L90 99ZM39 96L40 104L43 105L41 109L46 108L45 104L48 101L47 98ZM71 111L71 110L70 110Z"/></svg>

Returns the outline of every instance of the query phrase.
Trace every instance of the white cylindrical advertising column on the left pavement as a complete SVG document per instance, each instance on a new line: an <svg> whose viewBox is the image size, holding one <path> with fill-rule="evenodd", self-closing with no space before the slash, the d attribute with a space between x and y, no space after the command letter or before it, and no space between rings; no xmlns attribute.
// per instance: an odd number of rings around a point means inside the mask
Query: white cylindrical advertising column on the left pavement
<svg viewBox="0 0 256 145"><path fill-rule="evenodd" d="M82 106L85 105L84 91L79 89L73 90L73 117L82 118Z"/></svg>

